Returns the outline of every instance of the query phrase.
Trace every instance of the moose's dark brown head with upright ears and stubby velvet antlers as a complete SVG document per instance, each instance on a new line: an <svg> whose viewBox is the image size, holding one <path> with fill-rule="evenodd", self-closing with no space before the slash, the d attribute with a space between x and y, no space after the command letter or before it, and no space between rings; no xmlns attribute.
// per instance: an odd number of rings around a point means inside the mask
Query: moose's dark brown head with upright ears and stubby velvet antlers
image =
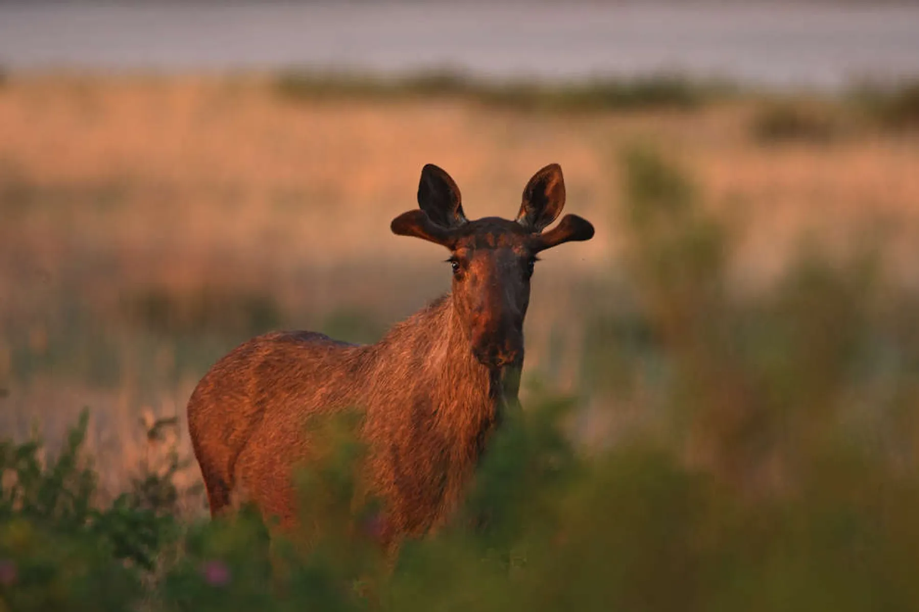
<svg viewBox="0 0 919 612"><path fill-rule="evenodd" d="M457 184L447 172L427 164L418 184L420 210L392 220L392 233L450 250L454 311L467 332L472 354L488 368L519 367L523 362L523 320L539 251L594 236L594 226L576 215L565 215L543 233L564 205L562 168L553 163L529 180L515 220L470 221Z"/></svg>

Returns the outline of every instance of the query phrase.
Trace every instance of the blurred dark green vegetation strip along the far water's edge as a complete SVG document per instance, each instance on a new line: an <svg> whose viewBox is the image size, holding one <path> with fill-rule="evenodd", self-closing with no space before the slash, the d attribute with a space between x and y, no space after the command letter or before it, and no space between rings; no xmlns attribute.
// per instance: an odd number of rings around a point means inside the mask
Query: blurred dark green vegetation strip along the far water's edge
<svg viewBox="0 0 919 612"><path fill-rule="evenodd" d="M740 96L761 99L763 92L739 83L699 81L659 73L634 78L596 77L569 83L518 79L492 81L462 72L433 70L384 77L360 72L281 72L271 82L282 98L371 101L445 99L516 111L578 112L697 109ZM857 115L880 128L919 125L919 83L856 83L841 95L812 95L808 103L782 95L766 96L752 120L754 139L766 143L828 142L858 125ZM844 104L840 107L839 103ZM856 111L856 112L853 112Z"/></svg>

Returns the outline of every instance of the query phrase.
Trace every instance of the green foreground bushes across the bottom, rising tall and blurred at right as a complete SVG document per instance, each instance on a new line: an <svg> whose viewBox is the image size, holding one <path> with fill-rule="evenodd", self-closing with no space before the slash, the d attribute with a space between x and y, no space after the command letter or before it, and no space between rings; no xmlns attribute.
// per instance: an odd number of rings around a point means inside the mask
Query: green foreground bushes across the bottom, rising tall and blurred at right
<svg viewBox="0 0 919 612"><path fill-rule="evenodd" d="M446 529L380 553L352 416L287 539L179 519L169 470L98 507L84 418L53 462L0 446L0 610L919 607L919 296L871 250L738 295L698 187L654 150L622 164L628 286L584 317L582 394L511 415ZM641 418L584 449L588 401Z"/></svg>

